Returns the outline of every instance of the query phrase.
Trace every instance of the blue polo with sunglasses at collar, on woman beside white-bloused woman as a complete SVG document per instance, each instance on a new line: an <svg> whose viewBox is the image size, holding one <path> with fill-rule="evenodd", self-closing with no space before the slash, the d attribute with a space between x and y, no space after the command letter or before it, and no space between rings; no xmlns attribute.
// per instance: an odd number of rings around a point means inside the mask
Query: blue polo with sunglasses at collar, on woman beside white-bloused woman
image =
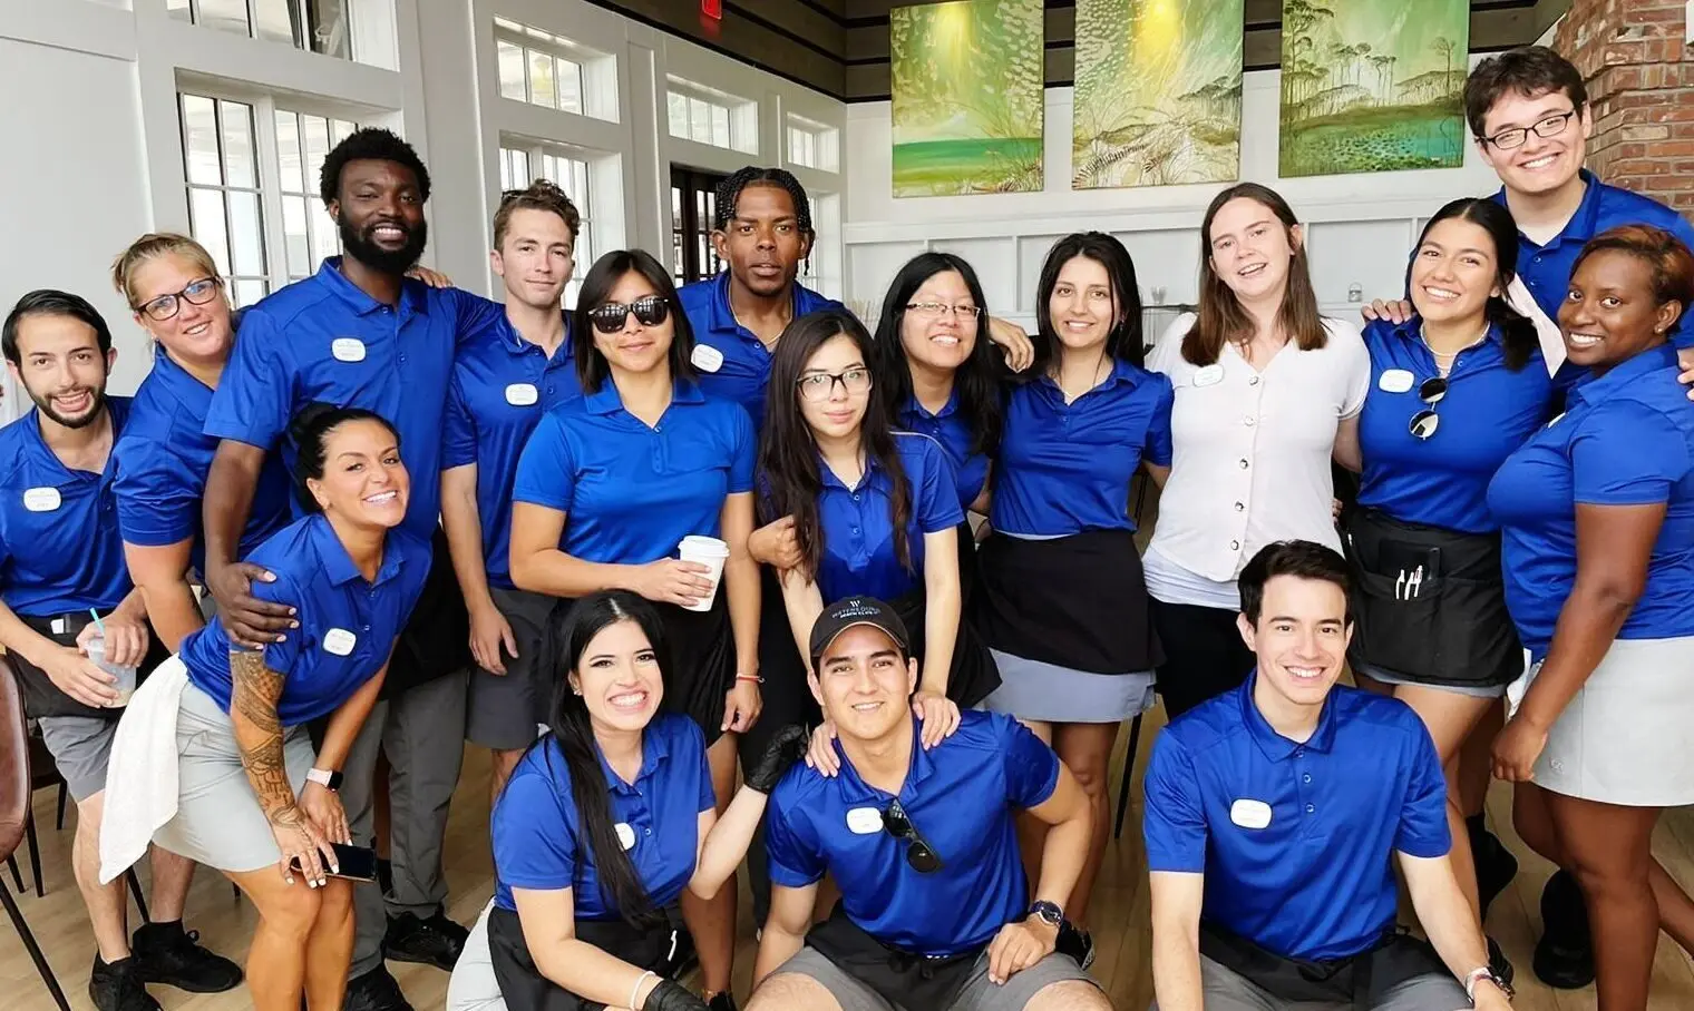
<svg viewBox="0 0 1694 1011"><path fill-rule="evenodd" d="M1365 464L1359 505L1401 523L1491 533L1499 523L1487 511L1487 483L1552 417L1553 381L1538 347L1521 369L1508 369L1499 329L1489 329L1482 344L1459 352L1447 396L1435 406L1442 423L1430 439L1418 439L1411 418L1426 406L1418 386L1440 376L1418 337L1421 327L1420 317L1365 325L1370 393L1359 415Z"/></svg>

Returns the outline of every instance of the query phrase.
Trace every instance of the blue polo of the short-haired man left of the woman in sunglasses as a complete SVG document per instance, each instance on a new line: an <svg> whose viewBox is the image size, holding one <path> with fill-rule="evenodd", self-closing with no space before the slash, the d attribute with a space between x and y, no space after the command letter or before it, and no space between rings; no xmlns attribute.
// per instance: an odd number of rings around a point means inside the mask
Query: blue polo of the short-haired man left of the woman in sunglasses
<svg viewBox="0 0 1694 1011"><path fill-rule="evenodd" d="M523 340L505 313L459 342L440 466L476 464L490 586L512 589L512 481L523 444L547 412L581 395L569 332L551 359Z"/></svg>

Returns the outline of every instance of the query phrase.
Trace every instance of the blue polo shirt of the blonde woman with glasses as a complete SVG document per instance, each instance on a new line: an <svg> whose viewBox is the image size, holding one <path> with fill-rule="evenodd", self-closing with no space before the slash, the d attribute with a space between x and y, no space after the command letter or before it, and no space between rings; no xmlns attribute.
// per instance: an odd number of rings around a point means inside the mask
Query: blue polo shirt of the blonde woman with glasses
<svg viewBox="0 0 1694 1011"><path fill-rule="evenodd" d="M112 450L117 459L117 525L124 540L137 547L166 547L193 537L191 561L202 571L205 540L200 505L219 442L205 434L210 406L212 388L159 347L152 356L152 371L141 381L129 408L124 437ZM266 537L286 527L291 506L293 483L283 459L266 454L237 555L247 557Z"/></svg>

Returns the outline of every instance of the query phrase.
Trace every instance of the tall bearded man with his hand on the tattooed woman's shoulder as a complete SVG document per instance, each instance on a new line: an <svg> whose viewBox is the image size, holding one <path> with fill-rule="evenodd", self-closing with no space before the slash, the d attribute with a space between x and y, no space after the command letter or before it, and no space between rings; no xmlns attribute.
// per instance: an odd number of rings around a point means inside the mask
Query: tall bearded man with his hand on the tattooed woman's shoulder
<svg viewBox="0 0 1694 1011"><path fill-rule="evenodd" d="M313 401L361 406L388 418L412 474L405 530L434 539L424 594L395 649L378 701L342 769L352 833L373 837L373 771L388 755L393 820L391 889L354 892L357 940L349 1011L407 1011L383 957L451 969L466 931L442 911L440 850L459 782L466 677L471 666L464 598L439 533L442 425L457 342L500 317L500 307L405 273L424 252L429 171L388 130L363 129L324 159L320 196L346 256L249 308L224 371L207 435L222 439L205 493L207 586L232 640L264 645L291 627L290 608L256 599L235 544L266 454L281 452L290 418Z"/></svg>

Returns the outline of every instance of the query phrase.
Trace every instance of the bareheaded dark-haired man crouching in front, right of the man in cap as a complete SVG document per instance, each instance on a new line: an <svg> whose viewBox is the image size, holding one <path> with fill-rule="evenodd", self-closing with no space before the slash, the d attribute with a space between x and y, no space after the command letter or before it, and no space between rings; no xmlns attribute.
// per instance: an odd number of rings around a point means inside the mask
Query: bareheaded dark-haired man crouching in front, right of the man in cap
<svg viewBox="0 0 1694 1011"><path fill-rule="evenodd" d="M1503 1011L1430 733L1399 699L1335 686L1347 562L1284 540L1238 584L1259 666L1174 720L1147 767L1157 1008ZM1394 926L1396 864L1430 943Z"/></svg>

